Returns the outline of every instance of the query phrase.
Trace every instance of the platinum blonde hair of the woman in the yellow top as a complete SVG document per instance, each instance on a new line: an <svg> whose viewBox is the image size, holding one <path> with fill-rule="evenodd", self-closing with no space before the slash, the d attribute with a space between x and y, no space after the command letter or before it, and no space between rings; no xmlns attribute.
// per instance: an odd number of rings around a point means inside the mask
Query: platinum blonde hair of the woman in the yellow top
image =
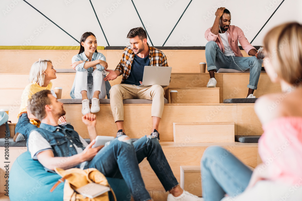
<svg viewBox="0 0 302 201"><path fill-rule="evenodd" d="M39 59L39 61L34 62L29 72L29 83L37 82L40 86L43 86L45 78L43 73L47 69L47 62L51 63L49 59Z"/></svg>

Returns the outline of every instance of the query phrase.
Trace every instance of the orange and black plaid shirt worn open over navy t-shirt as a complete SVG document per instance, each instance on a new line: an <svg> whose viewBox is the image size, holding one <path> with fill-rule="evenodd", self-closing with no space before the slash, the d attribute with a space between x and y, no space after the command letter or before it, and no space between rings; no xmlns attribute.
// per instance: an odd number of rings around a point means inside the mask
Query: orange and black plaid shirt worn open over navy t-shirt
<svg viewBox="0 0 302 201"><path fill-rule="evenodd" d="M156 49L154 47L149 47L149 59L150 59L150 66L168 66L167 57L164 55L162 51ZM124 49L122 59L120 63L117 64L117 67L114 71L120 71L120 74L123 74L122 82L124 83L125 80L129 77L131 65L134 58L134 52L131 49L131 46L127 46Z"/></svg>

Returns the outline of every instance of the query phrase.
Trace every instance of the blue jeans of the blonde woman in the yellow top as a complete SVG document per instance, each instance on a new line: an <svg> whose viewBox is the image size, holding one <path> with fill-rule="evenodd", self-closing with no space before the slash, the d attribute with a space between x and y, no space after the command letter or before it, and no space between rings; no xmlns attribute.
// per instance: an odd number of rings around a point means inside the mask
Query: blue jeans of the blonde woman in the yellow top
<svg viewBox="0 0 302 201"><path fill-rule="evenodd" d="M27 116L27 113L23 113L18 120L18 123L16 124L15 133L21 133L24 135L25 141L27 141L29 134L32 130L36 129L37 126L31 124L29 122L29 118Z"/></svg>

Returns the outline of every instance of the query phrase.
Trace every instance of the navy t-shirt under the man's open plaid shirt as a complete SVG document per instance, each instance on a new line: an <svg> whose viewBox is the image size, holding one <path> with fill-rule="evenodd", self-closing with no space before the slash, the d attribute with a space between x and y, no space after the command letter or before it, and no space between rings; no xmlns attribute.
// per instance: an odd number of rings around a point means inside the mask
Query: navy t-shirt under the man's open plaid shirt
<svg viewBox="0 0 302 201"><path fill-rule="evenodd" d="M145 58L140 58L137 55L134 55L130 74L124 84L131 84L131 85L140 85L140 81L143 81L143 74L145 66L150 65L149 55Z"/></svg>

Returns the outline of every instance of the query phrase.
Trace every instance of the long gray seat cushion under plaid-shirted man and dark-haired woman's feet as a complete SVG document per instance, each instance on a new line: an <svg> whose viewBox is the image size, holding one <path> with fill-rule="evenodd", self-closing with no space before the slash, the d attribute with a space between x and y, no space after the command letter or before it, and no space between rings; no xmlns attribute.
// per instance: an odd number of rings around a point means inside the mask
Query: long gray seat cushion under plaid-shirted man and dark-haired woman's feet
<svg viewBox="0 0 302 201"><path fill-rule="evenodd" d="M63 102L64 104L82 104L82 99L59 99L60 102ZM89 102L91 104L91 99L89 99ZM147 99L125 99L123 100L124 104L151 104L152 100ZM165 104L168 103L168 100L165 99ZM100 104L110 104L110 99L100 99Z"/></svg>

